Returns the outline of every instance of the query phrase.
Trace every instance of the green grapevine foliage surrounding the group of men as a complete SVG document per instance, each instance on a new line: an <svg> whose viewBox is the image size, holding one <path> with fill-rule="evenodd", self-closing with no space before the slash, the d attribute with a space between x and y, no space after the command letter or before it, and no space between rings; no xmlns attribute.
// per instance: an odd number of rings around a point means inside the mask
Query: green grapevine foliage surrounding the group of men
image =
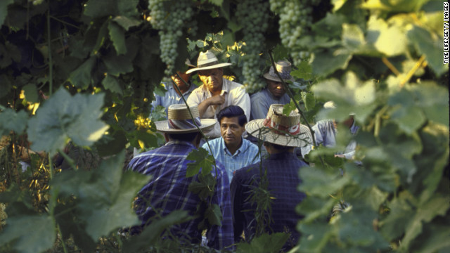
<svg viewBox="0 0 450 253"><path fill-rule="evenodd" d="M244 24L233 14L238 1L189 2L195 7L189 24L196 32L181 31L187 39L177 41L176 69L212 49L233 63L226 74L245 83ZM291 84L293 99L311 124L354 112L361 126L356 159L364 167L329 157L345 147L351 138L346 134L335 150L317 148L309 155L315 166L300 173L305 183L299 190L308 197L297 207L304 219L293 251L449 251L443 1L302 2L313 8L313 22L297 46L311 56L292 73L307 86ZM148 126L135 124L149 114L153 92L163 92L166 66L158 30L148 22L150 11L148 1L139 0L0 1L0 202L7 204L1 206L6 207L1 251L198 250L155 233L146 240L117 235L117 229L137 222L131 201L148 181L123 172L124 164L134 147L162 143L152 124L158 112ZM300 50L281 43L281 14L269 15L259 73L269 66L270 54L293 62L293 52ZM326 100L337 109L321 110ZM69 141L93 154L91 162L74 160L77 169L59 171L49 160L64 156ZM27 154L30 167L23 170L19 162L29 146L41 153ZM202 162L195 154L193 160ZM340 200L350 207L329 221ZM174 212L150 228L162 232L186 218ZM277 252L280 240L282 235L262 235L236 250Z"/></svg>

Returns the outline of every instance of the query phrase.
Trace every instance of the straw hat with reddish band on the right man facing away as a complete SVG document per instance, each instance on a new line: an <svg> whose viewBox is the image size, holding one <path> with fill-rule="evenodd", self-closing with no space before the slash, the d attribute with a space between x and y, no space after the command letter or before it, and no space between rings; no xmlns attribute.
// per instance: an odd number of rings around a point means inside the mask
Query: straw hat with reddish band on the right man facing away
<svg viewBox="0 0 450 253"><path fill-rule="evenodd" d="M283 106L271 105L266 119L254 119L245 124L248 134L262 141L288 147L303 147L312 143L311 131L300 124L300 114L290 112L283 114Z"/></svg>

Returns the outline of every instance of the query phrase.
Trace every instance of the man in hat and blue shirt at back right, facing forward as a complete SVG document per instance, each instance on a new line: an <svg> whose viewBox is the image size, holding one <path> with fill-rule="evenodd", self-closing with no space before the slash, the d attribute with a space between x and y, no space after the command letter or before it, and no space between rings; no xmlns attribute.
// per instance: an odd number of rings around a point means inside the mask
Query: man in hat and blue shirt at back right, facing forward
<svg viewBox="0 0 450 253"><path fill-rule="evenodd" d="M290 76L291 65L287 60L280 60L275 64L276 70L284 82L294 82ZM250 97L252 112L250 119L264 119L272 104L285 105L290 102L290 98L284 89L281 79L271 66L269 72L263 75L266 79L266 88L258 91Z"/></svg>

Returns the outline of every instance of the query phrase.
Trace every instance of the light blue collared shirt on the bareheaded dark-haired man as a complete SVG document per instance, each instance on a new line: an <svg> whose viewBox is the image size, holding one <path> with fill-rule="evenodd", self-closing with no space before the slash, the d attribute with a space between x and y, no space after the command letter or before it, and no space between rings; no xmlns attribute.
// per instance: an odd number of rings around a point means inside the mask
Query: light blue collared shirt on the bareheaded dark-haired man
<svg viewBox="0 0 450 253"><path fill-rule="evenodd" d="M208 141L211 146L212 156L215 160L224 164L228 177L231 181L233 178L234 171L259 162L258 146L251 143L250 141L242 138L242 145L236 150L236 152L231 155L228 148L226 148L224 138L215 138L212 141ZM209 151L207 143L203 144L202 148Z"/></svg>

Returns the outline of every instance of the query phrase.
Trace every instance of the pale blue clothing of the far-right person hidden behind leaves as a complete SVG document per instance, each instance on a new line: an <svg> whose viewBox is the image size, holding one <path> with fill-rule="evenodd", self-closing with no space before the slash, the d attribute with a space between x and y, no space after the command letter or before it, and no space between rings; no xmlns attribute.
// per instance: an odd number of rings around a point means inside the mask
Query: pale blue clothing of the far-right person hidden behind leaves
<svg viewBox="0 0 450 253"><path fill-rule="evenodd" d="M336 145L336 129L333 124L332 119L324 119L316 122L314 126L311 126L314 130L314 137L316 138L316 145L322 144L328 148L333 148ZM350 134L355 135L358 131L359 126L354 123L350 126ZM356 141L352 140L345 148L344 153L345 158L352 159L356 149ZM311 145L302 148L302 155L306 155L311 151Z"/></svg>

